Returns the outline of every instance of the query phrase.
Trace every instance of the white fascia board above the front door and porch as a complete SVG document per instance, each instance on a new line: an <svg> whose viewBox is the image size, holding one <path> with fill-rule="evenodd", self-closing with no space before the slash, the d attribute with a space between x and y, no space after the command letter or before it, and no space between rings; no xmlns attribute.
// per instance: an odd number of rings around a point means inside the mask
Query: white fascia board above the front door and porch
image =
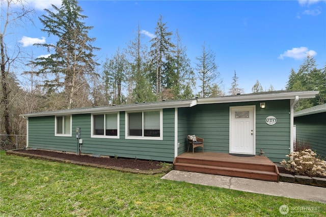
<svg viewBox="0 0 326 217"><path fill-rule="evenodd" d="M295 99L298 96L299 99L315 98L319 91L296 91L296 92L280 92L261 95L236 95L231 97L219 97L219 98L200 98L198 104L213 104L213 103L236 103L236 102L252 102L252 101L267 101L267 100L288 100Z"/></svg>

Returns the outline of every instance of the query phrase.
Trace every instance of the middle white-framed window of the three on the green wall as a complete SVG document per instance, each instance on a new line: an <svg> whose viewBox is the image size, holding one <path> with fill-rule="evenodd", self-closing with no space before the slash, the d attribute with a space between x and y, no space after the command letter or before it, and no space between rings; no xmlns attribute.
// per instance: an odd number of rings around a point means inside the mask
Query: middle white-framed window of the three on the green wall
<svg viewBox="0 0 326 217"><path fill-rule="evenodd" d="M118 113L93 114L92 137L119 138L118 123Z"/></svg>

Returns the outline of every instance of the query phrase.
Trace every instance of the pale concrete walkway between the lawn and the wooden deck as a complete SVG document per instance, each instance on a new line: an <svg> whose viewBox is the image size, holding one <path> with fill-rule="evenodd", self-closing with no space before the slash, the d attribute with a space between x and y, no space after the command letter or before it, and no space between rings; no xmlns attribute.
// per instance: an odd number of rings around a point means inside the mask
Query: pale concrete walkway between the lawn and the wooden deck
<svg viewBox="0 0 326 217"><path fill-rule="evenodd" d="M163 176L162 179L185 181L194 184L210 185L244 192L326 203L326 188L313 187L311 185L261 181L178 170L172 170Z"/></svg>

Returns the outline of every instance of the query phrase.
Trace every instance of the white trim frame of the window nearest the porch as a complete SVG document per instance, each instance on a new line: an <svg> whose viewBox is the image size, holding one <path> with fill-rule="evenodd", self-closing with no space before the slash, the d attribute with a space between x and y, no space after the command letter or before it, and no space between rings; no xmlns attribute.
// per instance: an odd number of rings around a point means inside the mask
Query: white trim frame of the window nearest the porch
<svg viewBox="0 0 326 217"><path fill-rule="evenodd" d="M144 136L144 112L147 111L159 111L159 137L150 137L150 136ZM143 129L142 134L143 136L128 136L128 113L140 113L142 112L142 118L143 118ZM156 109L156 110L143 110L143 111L131 111L131 112L125 112L125 138L126 139L141 139L141 140L163 140L163 110L162 109Z"/></svg>

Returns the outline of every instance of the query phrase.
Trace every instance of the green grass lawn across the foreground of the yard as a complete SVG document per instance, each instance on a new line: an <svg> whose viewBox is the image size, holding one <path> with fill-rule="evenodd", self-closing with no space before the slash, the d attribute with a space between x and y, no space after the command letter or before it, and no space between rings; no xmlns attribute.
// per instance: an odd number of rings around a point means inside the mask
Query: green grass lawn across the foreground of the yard
<svg viewBox="0 0 326 217"><path fill-rule="evenodd" d="M1 151L1 216L283 216L279 207L326 204L47 162ZM297 216L290 211L286 216Z"/></svg>

